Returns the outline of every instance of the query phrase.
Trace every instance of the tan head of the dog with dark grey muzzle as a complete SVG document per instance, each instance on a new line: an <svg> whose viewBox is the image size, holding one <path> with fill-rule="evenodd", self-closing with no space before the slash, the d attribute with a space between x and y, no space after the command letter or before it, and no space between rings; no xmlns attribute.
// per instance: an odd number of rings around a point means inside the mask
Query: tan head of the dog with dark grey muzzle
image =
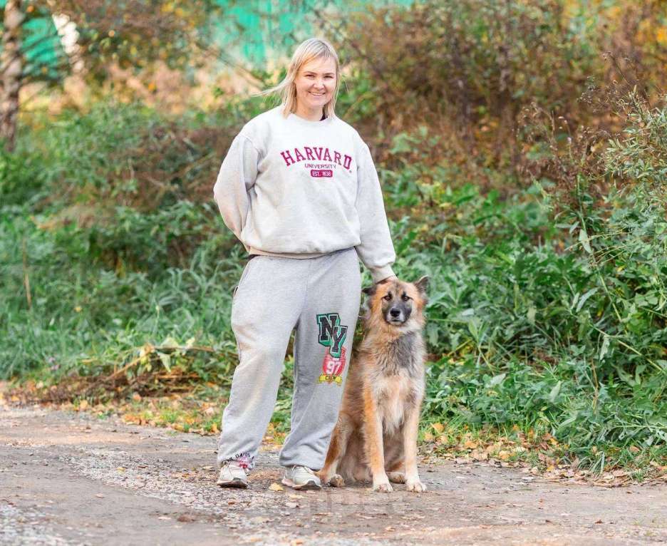
<svg viewBox="0 0 667 546"><path fill-rule="evenodd" d="M415 283L390 279L363 289L368 296L368 318L400 329L421 328L427 287L428 277L422 277Z"/></svg>

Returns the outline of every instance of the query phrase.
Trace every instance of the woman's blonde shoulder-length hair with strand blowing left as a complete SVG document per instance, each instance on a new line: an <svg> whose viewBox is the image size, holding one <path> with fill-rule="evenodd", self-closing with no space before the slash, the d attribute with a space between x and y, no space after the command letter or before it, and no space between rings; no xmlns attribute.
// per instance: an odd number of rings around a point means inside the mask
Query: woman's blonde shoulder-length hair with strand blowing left
<svg viewBox="0 0 667 546"><path fill-rule="evenodd" d="M289 66L287 67L287 74L283 81L277 86L260 91L257 95L276 95L280 96L285 117L296 112L296 84L294 80L299 73L301 66L312 61L315 58L333 58L336 63L336 87L334 88L334 96L331 101L324 105L324 115L329 118L334 115L334 108L336 106L336 97L338 96L338 88L341 86L341 67L338 61L338 54L331 45L324 38L308 38L299 44L299 47L294 51Z"/></svg>

